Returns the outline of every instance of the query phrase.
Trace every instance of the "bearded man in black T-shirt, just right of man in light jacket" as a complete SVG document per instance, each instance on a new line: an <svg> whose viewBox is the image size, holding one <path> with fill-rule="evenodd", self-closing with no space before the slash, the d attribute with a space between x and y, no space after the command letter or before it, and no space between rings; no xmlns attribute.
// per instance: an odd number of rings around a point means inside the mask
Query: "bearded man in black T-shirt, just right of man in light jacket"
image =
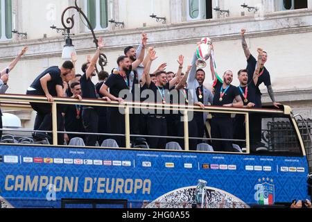
<svg viewBox="0 0 312 222"><path fill-rule="evenodd" d="M239 96L239 89L231 85L233 72L228 70L223 75L223 83L220 80L215 85L214 103L223 107L243 107L243 101ZM236 101L236 103L234 103ZM212 139L233 139L233 120L231 114L213 113L211 119ZM214 151L233 151L233 142L212 140Z"/></svg>

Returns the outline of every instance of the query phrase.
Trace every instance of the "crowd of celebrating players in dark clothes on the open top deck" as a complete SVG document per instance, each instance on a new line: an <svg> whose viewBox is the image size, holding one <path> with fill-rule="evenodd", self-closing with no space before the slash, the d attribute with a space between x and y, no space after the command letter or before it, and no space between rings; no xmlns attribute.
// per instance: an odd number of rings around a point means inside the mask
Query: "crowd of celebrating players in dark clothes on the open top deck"
<svg viewBox="0 0 312 222"><path fill-rule="evenodd" d="M148 36L143 33L141 44L136 50L128 46L124 50L124 56L117 60L117 67L111 74L106 71L96 71L96 62L104 47L102 38L98 39L98 49L93 58L87 57L81 68L83 75L76 74L76 55L73 54L71 61L66 61L61 67L49 67L37 76L26 94L31 96L46 96L49 102L53 102L55 96L71 97L73 99L101 99L105 103L116 101L143 102L146 99L154 103L195 105L202 109L209 105L234 107L234 108L261 108L261 92L259 86L264 83L268 88L268 94L273 104L279 108L270 83L270 74L264 67L268 53L258 49L256 58L252 56L245 41L245 30L241 30L242 46L247 58L247 68L238 72L240 85L232 85L234 73L231 70L218 76L215 70L214 60L210 56L210 69L213 89L205 87L206 73L204 69L198 69L196 53L191 65L184 67L184 56L177 59L177 72L165 71L166 63L163 63L152 74L150 67L157 60L156 51L148 46ZM214 53L214 46L211 44ZM25 53L23 49L22 56ZM18 60L17 60L18 61ZM17 63L15 61L15 65ZM183 73L183 69L185 73ZM12 67L10 68L12 69ZM9 71L10 71L9 69ZM99 82L95 85L92 78L98 76ZM1 72L1 77L6 78ZM2 79L1 78L1 79ZM4 84L0 81L1 84ZM127 92L127 93L125 93ZM139 95L139 96L137 96ZM175 96L177 95L177 96ZM51 135L44 131L52 129L52 114L50 103L31 103L33 110L37 112L33 137L36 140L50 139ZM146 135L150 148L165 148L167 142L177 142L184 148L184 113L165 113L132 110L130 114L130 134L132 144L139 137ZM155 110L154 110L155 111ZM73 137L84 139L86 146L101 145L105 139L115 139L120 147L125 147L125 121L120 108L106 108L82 105L58 105L58 131L80 132L86 135L74 135L71 133L58 134L58 144L69 142ZM260 121L260 122L259 122ZM209 123L210 130L207 130ZM253 147L261 146L261 119L250 119L251 135L254 135ZM202 139L210 139L209 144L214 151L233 151L231 139L245 139L245 117L230 114L213 113L207 119L207 112L194 112L189 118L189 137L198 138L189 140L190 150L196 150ZM98 135L101 134L101 135ZM108 136L104 134L114 135ZM148 137L152 136L152 137ZM172 139L168 139L170 137ZM177 139L173 139L177 137ZM180 138L180 139L179 139ZM202 138L202 139L201 139ZM241 146L244 144L241 143Z"/></svg>

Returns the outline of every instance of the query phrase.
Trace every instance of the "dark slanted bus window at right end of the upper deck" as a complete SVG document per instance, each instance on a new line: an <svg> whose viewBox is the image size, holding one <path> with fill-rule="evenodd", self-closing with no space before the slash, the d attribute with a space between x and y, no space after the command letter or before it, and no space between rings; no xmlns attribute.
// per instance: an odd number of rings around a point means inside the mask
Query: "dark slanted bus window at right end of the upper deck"
<svg viewBox="0 0 312 222"><path fill-rule="evenodd" d="M300 155L301 148L291 118L284 114L250 114L250 152Z"/></svg>

